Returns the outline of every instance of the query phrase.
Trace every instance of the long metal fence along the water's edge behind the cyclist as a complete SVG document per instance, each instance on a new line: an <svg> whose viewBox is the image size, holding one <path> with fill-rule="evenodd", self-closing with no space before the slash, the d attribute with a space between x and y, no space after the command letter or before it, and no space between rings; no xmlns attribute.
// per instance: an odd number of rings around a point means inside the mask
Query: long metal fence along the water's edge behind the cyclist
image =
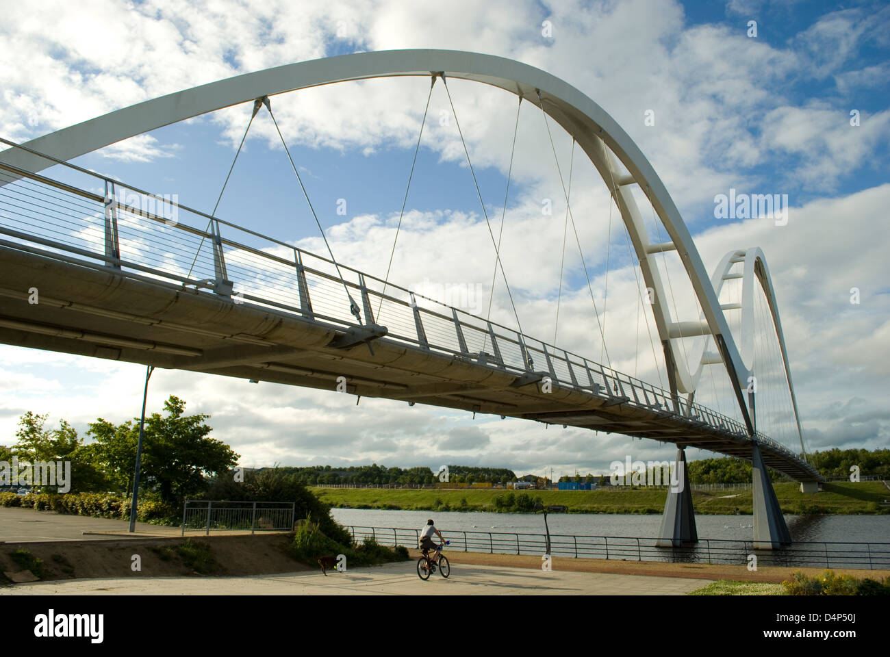
<svg viewBox="0 0 890 657"><path fill-rule="evenodd" d="M417 547L420 530L396 527L348 527L352 538L373 537L383 545ZM544 555L546 535L502 531L443 531L449 549L490 554ZM658 539L627 536L550 535L550 555L619 561L688 564L748 564L813 568L890 569L890 543L800 541L790 547L762 550L751 540L699 539L695 547L657 547Z"/></svg>

